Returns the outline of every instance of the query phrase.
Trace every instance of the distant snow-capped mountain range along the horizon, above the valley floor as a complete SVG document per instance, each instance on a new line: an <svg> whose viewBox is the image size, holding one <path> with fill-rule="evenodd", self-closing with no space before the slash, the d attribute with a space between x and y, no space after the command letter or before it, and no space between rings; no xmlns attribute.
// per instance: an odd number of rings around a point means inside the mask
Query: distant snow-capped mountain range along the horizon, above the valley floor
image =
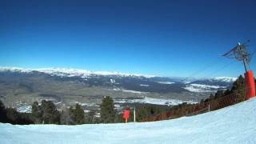
<svg viewBox="0 0 256 144"><path fill-rule="evenodd" d="M192 82L182 78L165 78L146 74L125 74L108 71L90 71L71 68L26 69L19 67L0 67L0 73L9 74L47 74L51 77L77 79L90 86L118 87L142 92L213 92L226 89L236 80L231 77L197 78ZM190 79L191 81L191 79ZM200 90L199 90L200 89Z"/></svg>

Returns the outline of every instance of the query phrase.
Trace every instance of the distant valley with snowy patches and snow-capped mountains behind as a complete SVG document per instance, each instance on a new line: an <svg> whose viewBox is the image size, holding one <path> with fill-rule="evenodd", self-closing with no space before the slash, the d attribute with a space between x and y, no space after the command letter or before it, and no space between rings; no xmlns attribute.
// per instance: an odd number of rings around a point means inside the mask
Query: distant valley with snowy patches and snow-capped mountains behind
<svg viewBox="0 0 256 144"><path fill-rule="evenodd" d="M210 93L229 88L234 80L226 77L197 78L188 82L186 78L144 74L0 67L0 98L10 104L16 103L15 106L48 99L56 104L81 102L84 106L95 106L96 109L102 97L110 95L116 106L132 102L170 106L182 102L198 102Z"/></svg>

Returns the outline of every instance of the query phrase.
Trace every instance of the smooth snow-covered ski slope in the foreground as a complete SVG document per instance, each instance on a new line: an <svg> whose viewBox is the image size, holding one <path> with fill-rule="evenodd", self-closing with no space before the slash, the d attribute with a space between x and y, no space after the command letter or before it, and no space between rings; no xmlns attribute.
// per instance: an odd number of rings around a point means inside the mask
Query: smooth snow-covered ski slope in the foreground
<svg viewBox="0 0 256 144"><path fill-rule="evenodd" d="M0 143L256 143L256 98L162 122L81 126L0 123Z"/></svg>

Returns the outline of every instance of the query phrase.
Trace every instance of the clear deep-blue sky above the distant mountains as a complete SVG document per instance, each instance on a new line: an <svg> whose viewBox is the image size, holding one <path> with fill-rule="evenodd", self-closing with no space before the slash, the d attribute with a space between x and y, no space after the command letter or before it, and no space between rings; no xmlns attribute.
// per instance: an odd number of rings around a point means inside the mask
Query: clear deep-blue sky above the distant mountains
<svg viewBox="0 0 256 144"><path fill-rule="evenodd" d="M221 55L255 34L255 0L0 1L0 66L237 77Z"/></svg>

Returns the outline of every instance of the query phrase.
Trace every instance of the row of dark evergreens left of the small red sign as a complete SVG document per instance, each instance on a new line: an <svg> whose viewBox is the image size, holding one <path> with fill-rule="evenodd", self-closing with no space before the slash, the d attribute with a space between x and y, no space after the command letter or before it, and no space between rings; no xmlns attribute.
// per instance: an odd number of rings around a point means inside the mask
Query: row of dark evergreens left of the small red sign
<svg viewBox="0 0 256 144"><path fill-rule="evenodd" d="M110 96L102 99L100 117L95 112L85 113L82 106L76 104L63 110L58 110L54 102L42 100L41 104L34 102L31 113L20 113L14 108L4 106L0 100L0 122L11 124L59 124L79 125L89 123L122 122L122 117L114 109L114 101Z"/></svg>

